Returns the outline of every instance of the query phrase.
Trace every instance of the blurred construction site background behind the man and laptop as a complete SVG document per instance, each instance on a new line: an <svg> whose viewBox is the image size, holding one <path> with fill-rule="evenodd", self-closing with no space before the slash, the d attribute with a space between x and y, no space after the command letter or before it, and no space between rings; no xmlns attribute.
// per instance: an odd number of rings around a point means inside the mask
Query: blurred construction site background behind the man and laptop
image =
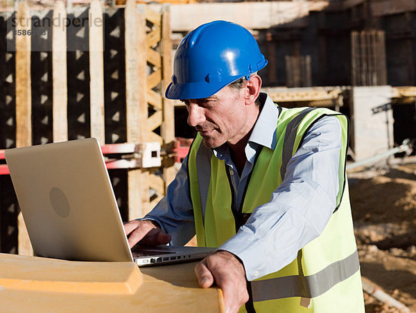
<svg viewBox="0 0 416 313"><path fill-rule="evenodd" d="M349 117L361 271L399 301L366 311L416 312L416 0L0 0L0 252L33 253L5 149L96 137L122 219L153 208L195 135L164 98L173 53L216 19L252 32L276 103Z"/></svg>

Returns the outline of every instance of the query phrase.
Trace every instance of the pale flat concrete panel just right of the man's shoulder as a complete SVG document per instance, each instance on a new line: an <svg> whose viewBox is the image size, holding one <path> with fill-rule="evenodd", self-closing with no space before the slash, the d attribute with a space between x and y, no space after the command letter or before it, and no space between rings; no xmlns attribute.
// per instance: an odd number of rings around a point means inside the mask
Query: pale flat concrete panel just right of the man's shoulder
<svg viewBox="0 0 416 313"><path fill-rule="evenodd" d="M351 144L356 160L393 145L392 87L353 87Z"/></svg>

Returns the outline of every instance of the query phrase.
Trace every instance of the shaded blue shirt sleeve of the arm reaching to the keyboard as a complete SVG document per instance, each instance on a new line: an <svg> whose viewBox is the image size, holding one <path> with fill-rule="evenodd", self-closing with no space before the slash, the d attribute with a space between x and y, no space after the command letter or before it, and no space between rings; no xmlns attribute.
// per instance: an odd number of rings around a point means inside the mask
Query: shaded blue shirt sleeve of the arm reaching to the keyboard
<svg viewBox="0 0 416 313"><path fill-rule="evenodd" d="M174 246L187 244L195 235L187 159L188 157L182 162L175 179L168 186L166 196L144 217L159 223L162 230L172 236L171 244Z"/></svg>

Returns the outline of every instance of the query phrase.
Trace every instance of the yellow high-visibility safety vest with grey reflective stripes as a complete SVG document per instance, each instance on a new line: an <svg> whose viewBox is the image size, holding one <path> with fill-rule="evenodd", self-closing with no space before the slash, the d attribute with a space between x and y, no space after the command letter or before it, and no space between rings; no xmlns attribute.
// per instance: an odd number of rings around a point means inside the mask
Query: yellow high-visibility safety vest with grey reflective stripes
<svg viewBox="0 0 416 313"><path fill-rule="evenodd" d="M239 220L270 201L286 165L311 126L321 117L338 117L342 129L337 207L322 234L306 244L283 269L250 282L256 312L364 312L360 266L354 238L345 158L348 121L324 108L281 108L275 150L263 147L252 169L241 212L232 212L232 189L223 160L197 135L189 151L189 189L198 246L218 247L236 234ZM237 225L237 227L236 227ZM241 312L245 307L241 307Z"/></svg>

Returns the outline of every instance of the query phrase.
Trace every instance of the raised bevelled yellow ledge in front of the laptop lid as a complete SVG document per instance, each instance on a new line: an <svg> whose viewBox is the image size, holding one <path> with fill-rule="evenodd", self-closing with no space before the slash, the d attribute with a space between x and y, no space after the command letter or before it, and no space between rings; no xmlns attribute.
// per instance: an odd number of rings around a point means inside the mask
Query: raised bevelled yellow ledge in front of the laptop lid
<svg viewBox="0 0 416 313"><path fill-rule="evenodd" d="M134 294L142 274L132 262L69 262L44 257L0 257L0 286L67 294Z"/></svg>

